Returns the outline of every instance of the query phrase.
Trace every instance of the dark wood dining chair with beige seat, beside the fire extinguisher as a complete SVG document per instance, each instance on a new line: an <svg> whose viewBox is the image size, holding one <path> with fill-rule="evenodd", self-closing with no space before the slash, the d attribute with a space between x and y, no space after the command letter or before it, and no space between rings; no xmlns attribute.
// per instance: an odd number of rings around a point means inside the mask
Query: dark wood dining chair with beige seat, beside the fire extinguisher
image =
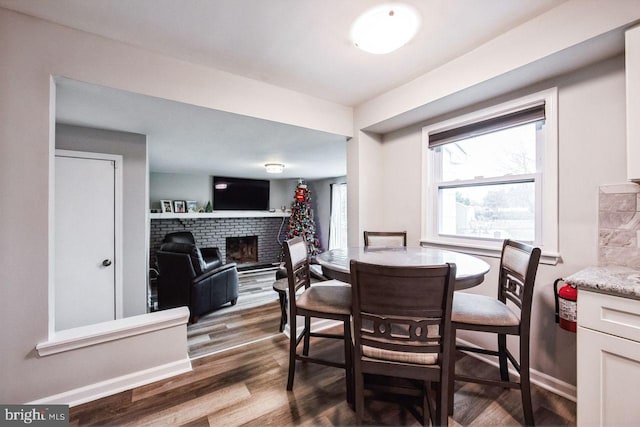
<svg viewBox="0 0 640 427"><path fill-rule="evenodd" d="M457 350L498 356L500 380L455 375L455 363L449 375L449 414L453 414L454 380L478 384L517 388L522 393L522 408L526 425L534 425L529 377L529 330L531 326L531 302L536 279L540 248L505 240L502 246L498 277L498 298L456 292L453 298L451 323L453 329L452 356ZM507 302L510 302L507 305ZM497 334L498 350L456 345L456 331L479 331ZM507 349L507 335L517 335L520 341L520 360ZM507 360L520 375L520 382L509 380Z"/></svg>

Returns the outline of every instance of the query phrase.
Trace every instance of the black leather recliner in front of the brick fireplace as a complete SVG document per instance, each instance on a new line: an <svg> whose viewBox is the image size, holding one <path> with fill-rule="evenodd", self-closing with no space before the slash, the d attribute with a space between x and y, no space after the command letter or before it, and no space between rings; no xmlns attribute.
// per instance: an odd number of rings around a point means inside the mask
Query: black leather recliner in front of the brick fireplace
<svg viewBox="0 0 640 427"><path fill-rule="evenodd" d="M189 321L216 308L238 301L235 263L207 267L200 249L191 243L164 243L156 253L158 308L188 306Z"/></svg>

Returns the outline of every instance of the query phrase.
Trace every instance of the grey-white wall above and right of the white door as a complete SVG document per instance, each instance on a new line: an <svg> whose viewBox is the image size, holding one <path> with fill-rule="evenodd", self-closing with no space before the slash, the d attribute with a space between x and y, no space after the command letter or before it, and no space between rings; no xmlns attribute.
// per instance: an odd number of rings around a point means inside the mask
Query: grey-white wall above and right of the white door
<svg viewBox="0 0 640 427"><path fill-rule="evenodd" d="M123 157L124 316L147 312L147 137L79 126L56 125L56 148Z"/></svg>

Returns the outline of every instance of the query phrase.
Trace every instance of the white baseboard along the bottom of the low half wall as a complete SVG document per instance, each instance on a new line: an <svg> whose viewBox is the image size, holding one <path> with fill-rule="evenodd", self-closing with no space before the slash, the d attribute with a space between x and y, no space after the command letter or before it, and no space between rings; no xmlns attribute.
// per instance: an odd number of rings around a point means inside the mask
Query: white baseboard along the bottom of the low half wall
<svg viewBox="0 0 640 427"><path fill-rule="evenodd" d="M33 402L28 402L28 404L64 404L73 407L175 375L184 374L191 370L191 361L186 358L34 400Z"/></svg>

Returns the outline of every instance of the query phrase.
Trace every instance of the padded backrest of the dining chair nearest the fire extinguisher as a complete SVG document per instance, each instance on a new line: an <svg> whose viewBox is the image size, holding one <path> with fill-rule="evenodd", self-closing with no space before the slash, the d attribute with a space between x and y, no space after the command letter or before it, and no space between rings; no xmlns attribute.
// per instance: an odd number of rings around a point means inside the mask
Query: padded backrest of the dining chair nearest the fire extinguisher
<svg viewBox="0 0 640 427"><path fill-rule="evenodd" d="M540 248L508 239L504 241L498 278L498 299L504 303L511 301L520 309L521 323L529 322L533 285L539 262Z"/></svg>

